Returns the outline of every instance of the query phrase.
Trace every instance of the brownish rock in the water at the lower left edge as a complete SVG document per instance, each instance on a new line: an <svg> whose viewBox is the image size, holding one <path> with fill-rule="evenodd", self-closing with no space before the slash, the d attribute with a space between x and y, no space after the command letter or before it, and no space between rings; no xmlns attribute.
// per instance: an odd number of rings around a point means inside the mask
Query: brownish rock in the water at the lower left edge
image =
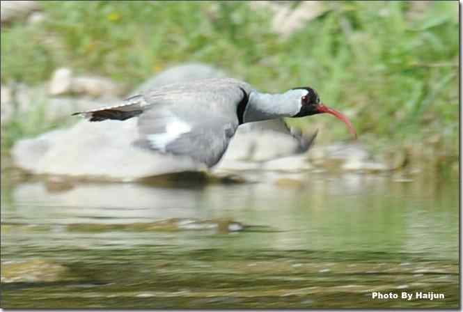
<svg viewBox="0 0 463 312"><path fill-rule="evenodd" d="M1 283L37 283L72 279L70 270L51 260L1 262Z"/></svg>

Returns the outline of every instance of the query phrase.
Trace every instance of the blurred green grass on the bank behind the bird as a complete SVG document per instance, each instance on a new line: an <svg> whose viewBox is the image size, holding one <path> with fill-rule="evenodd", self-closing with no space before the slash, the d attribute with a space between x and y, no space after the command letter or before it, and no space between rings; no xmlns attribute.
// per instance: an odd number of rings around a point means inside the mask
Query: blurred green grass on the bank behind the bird
<svg viewBox="0 0 463 312"><path fill-rule="evenodd" d="M1 83L40 84L69 66L134 88L169 65L202 61L267 91L313 86L366 141L438 136L457 155L457 3L434 1L414 15L408 1L321 5L322 15L281 38L269 10L240 1L45 1L40 26L1 27ZM292 123L329 125L327 139L346 137L331 121Z"/></svg>

